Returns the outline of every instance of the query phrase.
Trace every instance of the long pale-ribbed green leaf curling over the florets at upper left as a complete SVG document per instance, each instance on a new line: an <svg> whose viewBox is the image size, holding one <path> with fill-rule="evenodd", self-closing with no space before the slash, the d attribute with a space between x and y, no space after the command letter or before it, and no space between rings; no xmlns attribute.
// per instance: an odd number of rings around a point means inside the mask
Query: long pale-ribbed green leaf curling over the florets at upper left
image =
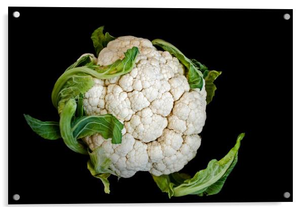
<svg viewBox="0 0 305 211"><path fill-rule="evenodd" d="M53 88L52 103L54 107L57 108L59 101L63 100L59 109L59 113L61 113L62 105L65 104L65 101L71 97L78 96L80 93L84 94L93 86L92 77L98 79L109 79L129 73L135 65L138 53L138 48L133 47L125 52L124 59L117 60L113 64L103 67L94 65L68 69L68 71L64 72L59 77ZM66 85L66 83L70 84Z"/></svg>

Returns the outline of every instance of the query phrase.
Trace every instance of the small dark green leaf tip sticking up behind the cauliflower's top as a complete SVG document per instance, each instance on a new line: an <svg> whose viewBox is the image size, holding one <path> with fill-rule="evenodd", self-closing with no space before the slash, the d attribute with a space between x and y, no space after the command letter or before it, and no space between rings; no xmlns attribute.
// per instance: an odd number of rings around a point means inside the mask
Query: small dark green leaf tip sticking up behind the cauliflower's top
<svg viewBox="0 0 305 211"><path fill-rule="evenodd" d="M107 46L107 44L115 40L115 37L112 37L108 32L103 33L104 26L98 27L92 33L91 40L95 48L96 55L98 56L99 52Z"/></svg>

